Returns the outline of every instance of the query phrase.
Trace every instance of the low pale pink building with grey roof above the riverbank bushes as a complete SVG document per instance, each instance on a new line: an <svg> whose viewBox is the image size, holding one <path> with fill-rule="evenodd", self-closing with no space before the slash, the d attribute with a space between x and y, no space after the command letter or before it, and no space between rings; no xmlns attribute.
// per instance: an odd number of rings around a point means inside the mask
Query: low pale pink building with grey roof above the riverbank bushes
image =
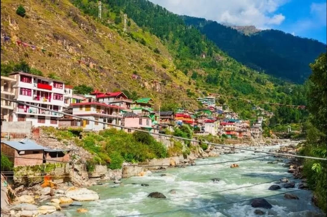
<svg viewBox="0 0 327 217"><path fill-rule="evenodd" d="M132 112L126 112L123 115L122 125L125 127L131 127L136 129L142 129L147 131L153 131L151 125L151 118L138 116ZM133 132L132 130L125 129L126 132Z"/></svg>

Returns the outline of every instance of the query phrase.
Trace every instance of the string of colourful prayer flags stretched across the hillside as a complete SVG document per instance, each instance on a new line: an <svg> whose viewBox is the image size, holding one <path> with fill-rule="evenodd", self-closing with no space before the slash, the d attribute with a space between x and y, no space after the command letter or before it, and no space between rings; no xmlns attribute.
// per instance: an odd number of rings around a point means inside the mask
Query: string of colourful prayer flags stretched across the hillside
<svg viewBox="0 0 327 217"><path fill-rule="evenodd" d="M1 38L5 39L5 41L7 40L11 40L8 36L1 36ZM35 50L36 48L42 50L42 52L44 53L45 51L48 51L42 47L38 47L38 46L34 46L34 45L31 45L31 44L28 44L28 43L25 43L25 42L22 42L21 40L15 40L15 42L20 45L22 44L23 47L31 47L33 50ZM73 59L73 60L76 60L78 61L78 63L83 63L85 65L91 65L93 63L91 62L86 62L84 60L79 60L75 57L72 57L72 56L69 56L69 55L63 55L63 54L59 54L57 52L53 52L53 51L49 51L51 53L54 53L54 54L57 54L58 56L62 56L64 58L69 58L69 59ZM127 73L127 72L122 72L122 71L119 71L119 70L114 70L112 68L109 68L109 67L105 67L105 66L100 66L100 65L97 65L97 64L93 64L95 67L98 66L102 69L107 69L109 71L113 71L113 72L116 72L116 73L119 73L119 74L128 74L128 75L131 75L132 76L132 79L143 79L143 80L146 80L146 81L152 81L154 83L158 83L158 84L163 84L163 85L169 85L169 86L172 86L172 87L175 87L175 88L180 88L180 89L187 89L183 86L179 86L179 85L173 85L173 84L167 84L167 83L164 83L164 82L160 82L160 81L156 81L154 79L149 79L149 78L143 78L139 75L135 75L133 73ZM195 92L198 92L200 94L202 94L204 91L206 90L196 90L196 89L192 89L193 91ZM217 93L208 93L209 95L213 95L213 96L217 96L217 97L226 97L226 98L231 98L231 99L236 99L236 100L242 100L242 101L248 101L248 102L259 102L259 103L264 103L264 104L270 104L270 105L283 105L283 106L290 106L290 107L303 107L303 105L291 105L291 104L283 104L283 103L274 103L274 102L265 102L265 101L258 101L258 100L249 100L249 99L243 99L243 98L238 98L238 97L233 97L233 96L227 96L227 95L222 95L222 94L217 94Z"/></svg>

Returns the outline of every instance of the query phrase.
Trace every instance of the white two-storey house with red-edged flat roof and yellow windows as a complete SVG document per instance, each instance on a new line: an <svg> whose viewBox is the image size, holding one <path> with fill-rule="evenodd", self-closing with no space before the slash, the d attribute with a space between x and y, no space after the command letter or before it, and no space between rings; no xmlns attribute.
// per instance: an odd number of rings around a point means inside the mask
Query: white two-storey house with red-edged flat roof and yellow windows
<svg viewBox="0 0 327 217"><path fill-rule="evenodd" d="M123 108L115 105L108 105L100 102L81 102L70 105L73 108L73 115L83 116L92 120L121 125ZM99 131L110 128L110 125L83 120L83 129Z"/></svg>

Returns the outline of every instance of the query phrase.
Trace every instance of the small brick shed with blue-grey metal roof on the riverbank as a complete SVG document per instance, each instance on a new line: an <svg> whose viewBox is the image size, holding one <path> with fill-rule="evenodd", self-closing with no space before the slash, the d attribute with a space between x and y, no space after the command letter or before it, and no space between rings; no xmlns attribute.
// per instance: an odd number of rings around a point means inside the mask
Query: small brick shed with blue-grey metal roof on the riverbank
<svg viewBox="0 0 327 217"><path fill-rule="evenodd" d="M9 156L14 167L34 166L43 163L70 161L70 150L49 149L37 143L23 139L22 141L1 140L1 153Z"/></svg>

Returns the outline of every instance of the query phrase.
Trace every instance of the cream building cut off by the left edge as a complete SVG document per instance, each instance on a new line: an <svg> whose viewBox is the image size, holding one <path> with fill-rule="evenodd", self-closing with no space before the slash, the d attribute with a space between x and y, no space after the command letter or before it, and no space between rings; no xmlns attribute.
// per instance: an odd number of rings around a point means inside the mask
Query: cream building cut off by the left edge
<svg viewBox="0 0 327 217"><path fill-rule="evenodd" d="M14 99L15 89L13 86L16 84L16 79L1 76L1 97L7 99ZM12 121L15 103L8 100L1 100L1 122Z"/></svg>

